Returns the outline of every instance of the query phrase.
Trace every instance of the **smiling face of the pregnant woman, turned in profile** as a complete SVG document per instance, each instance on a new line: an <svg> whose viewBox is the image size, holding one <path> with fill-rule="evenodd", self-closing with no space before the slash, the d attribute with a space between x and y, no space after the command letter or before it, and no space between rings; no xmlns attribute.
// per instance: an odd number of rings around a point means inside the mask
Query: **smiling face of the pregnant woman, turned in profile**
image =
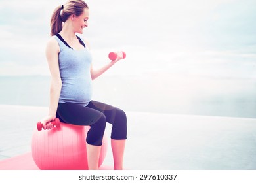
<svg viewBox="0 0 256 183"><path fill-rule="evenodd" d="M74 16L74 31L75 33L83 33L83 28L88 26L89 9L85 8L80 16Z"/></svg>

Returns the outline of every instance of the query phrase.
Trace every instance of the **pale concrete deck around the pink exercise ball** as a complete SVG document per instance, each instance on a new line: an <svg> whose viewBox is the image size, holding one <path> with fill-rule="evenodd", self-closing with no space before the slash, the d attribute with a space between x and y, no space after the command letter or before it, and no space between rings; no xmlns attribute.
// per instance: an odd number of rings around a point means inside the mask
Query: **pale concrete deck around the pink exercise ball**
<svg viewBox="0 0 256 183"><path fill-rule="evenodd" d="M0 105L0 167L1 160L30 152L33 129L47 110ZM256 169L256 119L143 112L127 112L127 119L125 169ZM112 166L108 144L103 165Z"/></svg>

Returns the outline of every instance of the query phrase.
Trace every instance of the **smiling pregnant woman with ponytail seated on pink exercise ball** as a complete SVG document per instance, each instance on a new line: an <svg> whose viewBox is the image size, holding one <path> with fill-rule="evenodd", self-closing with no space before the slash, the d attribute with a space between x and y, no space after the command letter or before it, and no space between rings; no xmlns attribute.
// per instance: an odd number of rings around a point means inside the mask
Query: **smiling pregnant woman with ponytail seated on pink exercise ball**
<svg viewBox="0 0 256 183"><path fill-rule="evenodd" d="M91 100L92 80L102 75L117 61L95 70L89 42L79 37L88 26L89 8L83 0L70 0L56 7L51 17L51 38L46 57L51 72L49 114L41 120L45 129L53 127L51 120L74 125L89 125L87 161L89 169L98 169L100 147L106 122L112 124L111 146L114 169L123 169L123 154L127 139L127 118L123 110Z"/></svg>

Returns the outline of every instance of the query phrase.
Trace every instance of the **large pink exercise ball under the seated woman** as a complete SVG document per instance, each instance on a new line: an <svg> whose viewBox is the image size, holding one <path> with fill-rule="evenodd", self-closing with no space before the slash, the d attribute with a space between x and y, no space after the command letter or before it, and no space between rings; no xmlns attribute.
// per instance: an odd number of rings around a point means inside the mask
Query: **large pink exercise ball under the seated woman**
<svg viewBox="0 0 256 183"><path fill-rule="evenodd" d="M60 127L38 131L32 135L32 157L39 169L82 170L88 169L86 137L89 126L60 123ZM102 165L108 148L104 136L98 167Z"/></svg>

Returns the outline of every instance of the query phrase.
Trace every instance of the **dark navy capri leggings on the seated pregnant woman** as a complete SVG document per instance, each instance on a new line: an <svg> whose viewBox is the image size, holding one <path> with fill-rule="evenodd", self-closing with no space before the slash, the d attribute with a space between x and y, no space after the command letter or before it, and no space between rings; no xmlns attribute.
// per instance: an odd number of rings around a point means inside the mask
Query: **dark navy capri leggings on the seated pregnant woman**
<svg viewBox="0 0 256 183"><path fill-rule="evenodd" d="M106 122L112 124L111 139L127 139L125 112L98 101L90 101L85 107L77 103L58 103L56 118L67 124L91 126L86 142L94 146L102 145Z"/></svg>

